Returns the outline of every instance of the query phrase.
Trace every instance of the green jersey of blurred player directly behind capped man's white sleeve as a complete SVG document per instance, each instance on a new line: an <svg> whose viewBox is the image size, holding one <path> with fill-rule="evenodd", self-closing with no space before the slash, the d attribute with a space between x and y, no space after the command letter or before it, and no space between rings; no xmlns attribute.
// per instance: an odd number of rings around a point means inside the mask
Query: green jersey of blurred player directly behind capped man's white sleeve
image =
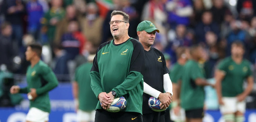
<svg viewBox="0 0 256 122"><path fill-rule="evenodd" d="M179 80L181 80L181 76L183 75L183 66L176 62L173 64L172 69L170 70L170 78L173 83L178 83Z"/></svg>

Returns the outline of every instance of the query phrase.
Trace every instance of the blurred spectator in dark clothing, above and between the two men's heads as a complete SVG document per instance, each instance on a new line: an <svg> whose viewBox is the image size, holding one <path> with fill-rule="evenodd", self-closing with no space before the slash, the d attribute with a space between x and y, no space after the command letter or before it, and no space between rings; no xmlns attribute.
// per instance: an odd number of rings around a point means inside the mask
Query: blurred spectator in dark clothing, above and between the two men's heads
<svg viewBox="0 0 256 122"><path fill-rule="evenodd" d="M137 25L140 23L136 9L131 6L130 0L121 0L122 2L122 11L129 15L129 31L128 34L130 37L137 38Z"/></svg>

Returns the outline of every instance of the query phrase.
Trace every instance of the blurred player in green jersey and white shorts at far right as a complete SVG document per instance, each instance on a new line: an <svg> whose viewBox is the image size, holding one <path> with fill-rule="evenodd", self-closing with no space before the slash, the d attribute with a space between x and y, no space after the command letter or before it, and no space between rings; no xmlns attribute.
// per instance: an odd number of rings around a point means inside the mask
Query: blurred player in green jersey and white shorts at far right
<svg viewBox="0 0 256 122"><path fill-rule="evenodd" d="M226 122L243 122L245 98L253 88L251 63L243 59L242 42L233 42L231 56L223 59L215 72L216 91L220 111ZM243 82L247 80L247 88L243 90Z"/></svg>

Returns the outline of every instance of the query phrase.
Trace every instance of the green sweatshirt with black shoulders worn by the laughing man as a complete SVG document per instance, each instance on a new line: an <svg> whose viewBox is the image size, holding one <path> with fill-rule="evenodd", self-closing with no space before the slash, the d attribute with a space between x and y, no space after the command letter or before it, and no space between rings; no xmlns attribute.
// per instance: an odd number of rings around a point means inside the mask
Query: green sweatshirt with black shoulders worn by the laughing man
<svg viewBox="0 0 256 122"><path fill-rule="evenodd" d="M144 65L145 53L138 40L130 38L118 45L114 40L103 43L91 68L91 88L97 98L101 92L115 91L115 97L126 98L123 111L142 114ZM96 109L102 109L100 102Z"/></svg>

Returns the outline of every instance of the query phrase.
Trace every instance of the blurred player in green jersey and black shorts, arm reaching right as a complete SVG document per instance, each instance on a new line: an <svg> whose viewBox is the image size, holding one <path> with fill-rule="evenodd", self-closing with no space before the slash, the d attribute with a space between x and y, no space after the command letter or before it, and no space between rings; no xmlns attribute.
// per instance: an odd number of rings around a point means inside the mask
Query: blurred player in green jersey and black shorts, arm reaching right
<svg viewBox="0 0 256 122"><path fill-rule="evenodd" d="M202 66L203 48L199 45L190 48L191 59L183 67L181 82L181 107L185 109L186 122L202 122L204 106L203 86L211 85L204 78Z"/></svg>

